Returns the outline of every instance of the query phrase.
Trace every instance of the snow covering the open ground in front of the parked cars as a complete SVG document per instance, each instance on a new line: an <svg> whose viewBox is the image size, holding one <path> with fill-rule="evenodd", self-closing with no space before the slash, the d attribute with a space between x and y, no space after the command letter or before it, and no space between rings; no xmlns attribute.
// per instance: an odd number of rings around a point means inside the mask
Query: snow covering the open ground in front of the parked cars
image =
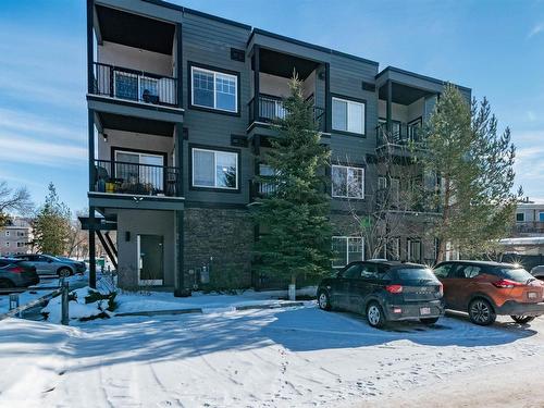
<svg viewBox="0 0 544 408"><path fill-rule="evenodd" d="M379 331L314 306L71 327L9 319L0 322L0 367L10 373L0 376L0 406L495 406L526 398L537 407L542 390L524 384L542 382L543 339L544 318L480 327L447 317L433 327Z"/></svg>

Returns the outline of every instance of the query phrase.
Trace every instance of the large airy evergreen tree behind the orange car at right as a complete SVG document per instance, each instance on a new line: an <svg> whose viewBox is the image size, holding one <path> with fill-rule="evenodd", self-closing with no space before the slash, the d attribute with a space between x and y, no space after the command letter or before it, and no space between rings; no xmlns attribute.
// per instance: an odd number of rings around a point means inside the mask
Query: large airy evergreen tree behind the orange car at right
<svg viewBox="0 0 544 408"><path fill-rule="evenodd" d="M469 103L448 85L424 137L424 168L440 181L432 194L442 214L433 231L440 239L437 260L444 259L446 243L465 256L485 254L507 236L522 194L512 193L516 148L509 128L497 132L485 98Z"/></svg>

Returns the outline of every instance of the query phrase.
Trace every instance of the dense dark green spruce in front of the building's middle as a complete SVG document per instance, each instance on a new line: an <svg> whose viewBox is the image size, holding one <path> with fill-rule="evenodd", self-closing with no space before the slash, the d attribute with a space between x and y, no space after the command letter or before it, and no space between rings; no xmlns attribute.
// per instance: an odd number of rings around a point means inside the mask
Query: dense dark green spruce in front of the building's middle
<svg viewBox="0 0 544 408"><path fill-rule="evenodd" d="M261 163L272 170L258 177L272 191L254 206L254 221L261 235L255 245L256 269L263 274L290 279L319 276L331 268L330 199L324 168L330 151L320 144L312 101L302 96L295 75L290 96L284 100L285 119Z"/></svg>

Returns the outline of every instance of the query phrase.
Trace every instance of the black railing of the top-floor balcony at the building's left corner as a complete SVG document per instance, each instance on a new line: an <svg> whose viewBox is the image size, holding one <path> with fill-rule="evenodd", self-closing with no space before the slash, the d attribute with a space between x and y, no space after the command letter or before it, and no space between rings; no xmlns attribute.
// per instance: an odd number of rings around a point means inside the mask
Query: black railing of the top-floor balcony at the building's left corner
<svg viewBox="0 0 544 408"><path fill-rule="evenodd" d="M152 104L177 106L177 78L94 63L94 94Z"/></svg>

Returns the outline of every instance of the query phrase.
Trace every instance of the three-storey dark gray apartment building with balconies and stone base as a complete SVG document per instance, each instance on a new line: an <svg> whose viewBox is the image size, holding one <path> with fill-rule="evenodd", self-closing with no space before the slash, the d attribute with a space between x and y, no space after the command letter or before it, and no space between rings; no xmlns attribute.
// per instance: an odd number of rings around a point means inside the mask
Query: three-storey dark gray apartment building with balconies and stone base
<svg viewBox="0 0 544 408"><path fill-rule="evenodd" d="M87 55L90 244L97 236L114 258L121 286L180 294L210 265L255 277L248 206L267 194L255 182L270 171L259 154L276 137L271 121L285 115L294 71L332 152L334 268L366 258L351 213L403 188L408 141L445 85L159 0L88 0ZM380 165L386 156L396 170ZM385 256L433 260L432 209L410 213Z"/></svg>

